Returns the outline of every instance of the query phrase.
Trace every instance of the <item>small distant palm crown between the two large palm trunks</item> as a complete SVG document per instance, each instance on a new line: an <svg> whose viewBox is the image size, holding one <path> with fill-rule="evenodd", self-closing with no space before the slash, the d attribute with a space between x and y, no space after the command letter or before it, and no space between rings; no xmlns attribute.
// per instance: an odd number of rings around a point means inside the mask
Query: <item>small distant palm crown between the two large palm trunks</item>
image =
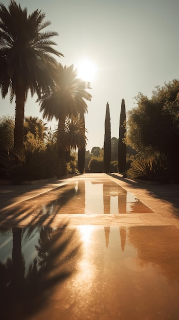
<svg viewBox="0 0 179 320"><path fill-rule="evenodd" d="M47 136L48 127L46 123L43 122L42 119L38 119L38 117L25 117L24 118L24 136L31 132L34 134L35 138L40 139L41 141L44 140Z"/></svg>

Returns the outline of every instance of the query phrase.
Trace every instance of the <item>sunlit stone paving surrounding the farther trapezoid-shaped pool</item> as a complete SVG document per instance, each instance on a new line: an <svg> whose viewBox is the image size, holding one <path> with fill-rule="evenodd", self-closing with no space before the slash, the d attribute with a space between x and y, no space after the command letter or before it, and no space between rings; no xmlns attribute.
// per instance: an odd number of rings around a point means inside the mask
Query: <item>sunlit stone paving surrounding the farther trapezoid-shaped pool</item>
<svg viewBox="0 0 179 320"><path fill-rule="evenodd" d="M100 179L115 181L126 191L148 205L154 213L107 214L107 215L34 215L31 210L23 208L22 201L30 200L32 204L38 201L38 195L45 194L76 179ZM46 193L48 196L48 193ZM28 202L29 203L29 202ZM31 202L30 202L31 203ZM60 180L43 182L34 185L1 185L0 186L0 222L1 225L54 225L58 226L69 220L71 225L174 225L179 229L179 185L146 185L122 178L117 173L87 173L74 175Z"/></svg>

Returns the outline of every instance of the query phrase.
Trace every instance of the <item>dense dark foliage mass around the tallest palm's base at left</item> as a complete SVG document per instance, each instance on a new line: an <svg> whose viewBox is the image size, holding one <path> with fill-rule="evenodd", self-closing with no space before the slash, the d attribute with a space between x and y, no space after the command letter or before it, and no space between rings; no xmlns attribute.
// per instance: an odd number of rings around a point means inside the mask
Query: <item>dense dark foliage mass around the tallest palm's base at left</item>
<svg viewBox="0 0 179 320"><path fill-rule="evenodd" d="M36 123L44 126L44 128L41 128L42 132L46 130L45 124L38 118ZM27 125L26 121L24 125ZM77 172L77 162L73 155L69 154L65 165L59 161L57 139L51 130L43 135L43 140L41 140L38 134L38 127L30 126L28 133L24 137L21 150L13 147L13 130L13 118L0 118L0 133L2 133L0 144L1 179L20 183L23 180L53 178L54 176L59 177L67 173Z"/></svg>

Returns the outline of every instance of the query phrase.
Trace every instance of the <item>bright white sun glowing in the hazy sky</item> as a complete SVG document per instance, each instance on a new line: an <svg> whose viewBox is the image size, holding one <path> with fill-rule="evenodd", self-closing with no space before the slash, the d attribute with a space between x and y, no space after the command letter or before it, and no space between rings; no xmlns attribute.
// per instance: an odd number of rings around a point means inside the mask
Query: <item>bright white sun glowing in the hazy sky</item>
<svg viewBox="0 0 179 320"><path fill-rule="evenodd" d="M95 76L95 65L89 60L83 60L77 67L78 77L84 81L92 81Z"/></svg>

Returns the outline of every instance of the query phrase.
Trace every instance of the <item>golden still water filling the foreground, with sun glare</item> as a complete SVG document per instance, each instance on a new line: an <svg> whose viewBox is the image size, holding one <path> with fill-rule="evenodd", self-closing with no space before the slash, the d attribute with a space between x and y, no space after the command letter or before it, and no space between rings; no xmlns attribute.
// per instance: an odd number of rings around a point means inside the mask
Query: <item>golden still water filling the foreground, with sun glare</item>
<svg viewBox="0 0 179 320"><path fill-rule="evenodd" d="M173 226L0 229L3 320L178 320Z"/></svg>

